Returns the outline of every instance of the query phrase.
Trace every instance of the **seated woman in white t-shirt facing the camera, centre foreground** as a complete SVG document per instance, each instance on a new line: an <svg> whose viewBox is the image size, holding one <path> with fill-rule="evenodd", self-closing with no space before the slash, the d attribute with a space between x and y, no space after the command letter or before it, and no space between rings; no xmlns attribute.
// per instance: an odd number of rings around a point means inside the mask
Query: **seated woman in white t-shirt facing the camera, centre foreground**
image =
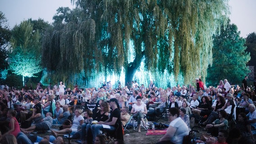
<svg viewBox="0 0 256 144"><path fill-rule="evenodd" d="M138 132L141 132L141 121L143 123L143 126L146 126L146 123L144 121L144 116L147 114L147 110L146 110L146 104L142 103L142 97L137 96L136 100L137 100L137 103L133 104L131 113L133 114L133 117L137 119Z"/></svg>

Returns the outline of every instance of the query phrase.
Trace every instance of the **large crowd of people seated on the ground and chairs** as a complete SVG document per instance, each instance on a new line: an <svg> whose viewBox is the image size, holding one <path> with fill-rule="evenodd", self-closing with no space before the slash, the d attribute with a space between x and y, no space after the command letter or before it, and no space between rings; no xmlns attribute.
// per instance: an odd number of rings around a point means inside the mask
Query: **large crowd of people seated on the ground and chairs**
<svg viewBox="0 0 256 144"><path fill-rule="evenodd" d="M192 119L195 121L196 118L212 137L217 137L216 140L209 137L205 143L218 142L220 134L226 135L221 130L231 131L228 121L232 119L237 120L232 128L241 133L238 141L251 143L253 134L256 134L256 95L247 87L247 76L241 87L231 86L226 79L220 80L216 87L206 87L201 78L194 82L195 86L177 85L166 89L158 88L153 81L148 87L132 81L131 85L122 87L119 84L115 89L110 81L99 88L85 89L78 88L78 85L73 89L66 88L62 81L45 89L41 83L35 89L25 85L22 90L5 85L0 90L0 124L3 124L0 139L14 135L19 144L40 141L62 144L61 135L72 134L83 143L96 144L101 139L100 131L110 130L117 131L114 136L117 143L122 144L122 126L131 115L137 121L138 132L141 132L141 126L147 129L145 117L154 117L169 108L170 124L166 135L159 140L160 144L182 144ZM78 107L87 103L96 103L96 108ZM66 126L67 120L72 121L72 125ZM55 124L62 125L62 130L51 130ZM46 138L27 135L34 130L51 130L52 135ZM229 140L228 136L226 138Z"/></svg>

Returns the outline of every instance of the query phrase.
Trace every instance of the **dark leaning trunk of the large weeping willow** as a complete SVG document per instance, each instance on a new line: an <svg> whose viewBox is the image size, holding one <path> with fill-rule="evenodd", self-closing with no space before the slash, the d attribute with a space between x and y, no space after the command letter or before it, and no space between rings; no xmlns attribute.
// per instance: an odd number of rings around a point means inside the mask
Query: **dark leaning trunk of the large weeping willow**
<svg viewBox="0 0 256 144"><path fill-rule="evenodd" d="M141 54L136 54L136 57L133 60L133 62L128 64L127 70L125 72L125 85L127 85L128 83L130 85L132 84L133 76L137 69L140 67L143 56L144 51L142 51Z"/></svg>

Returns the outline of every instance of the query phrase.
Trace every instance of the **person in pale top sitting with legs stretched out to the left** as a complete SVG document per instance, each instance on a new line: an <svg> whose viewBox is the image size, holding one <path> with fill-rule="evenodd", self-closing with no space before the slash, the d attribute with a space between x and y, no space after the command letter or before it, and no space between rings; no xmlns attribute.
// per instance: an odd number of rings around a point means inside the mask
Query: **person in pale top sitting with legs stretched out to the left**
<svg viewBox="0 0 256 144"><path fill-rule="evenodd" d="M51 130L52 134L55 137L58 137L63 134L68 134L68 133L71 133L72 135L75 134L78 131L78 126L82 126L84 121L84 118L82 117L81 114L82 114L82 109L76 108L73 125L71 126L71 128L65 128L59 131Z"/></svg>

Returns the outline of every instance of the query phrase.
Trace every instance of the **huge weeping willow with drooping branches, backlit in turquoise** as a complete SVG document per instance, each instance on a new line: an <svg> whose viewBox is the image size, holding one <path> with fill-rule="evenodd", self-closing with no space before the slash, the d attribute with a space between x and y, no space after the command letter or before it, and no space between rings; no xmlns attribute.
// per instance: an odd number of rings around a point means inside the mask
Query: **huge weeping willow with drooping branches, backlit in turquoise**
<svg viewBox="0 0 256 144"><path fill-rule="evenodd" d="M147 71L173 73L175 81L182 75L187 84L206 76L212 36L229 15L227 0L71 1L76 9L62 13L62 23L43 40L49 79L73 82L82 72L90 80L101 72L120 74L123 68L130 82L144 59ZM134 51L130 61L129 49Z"/></svg>

